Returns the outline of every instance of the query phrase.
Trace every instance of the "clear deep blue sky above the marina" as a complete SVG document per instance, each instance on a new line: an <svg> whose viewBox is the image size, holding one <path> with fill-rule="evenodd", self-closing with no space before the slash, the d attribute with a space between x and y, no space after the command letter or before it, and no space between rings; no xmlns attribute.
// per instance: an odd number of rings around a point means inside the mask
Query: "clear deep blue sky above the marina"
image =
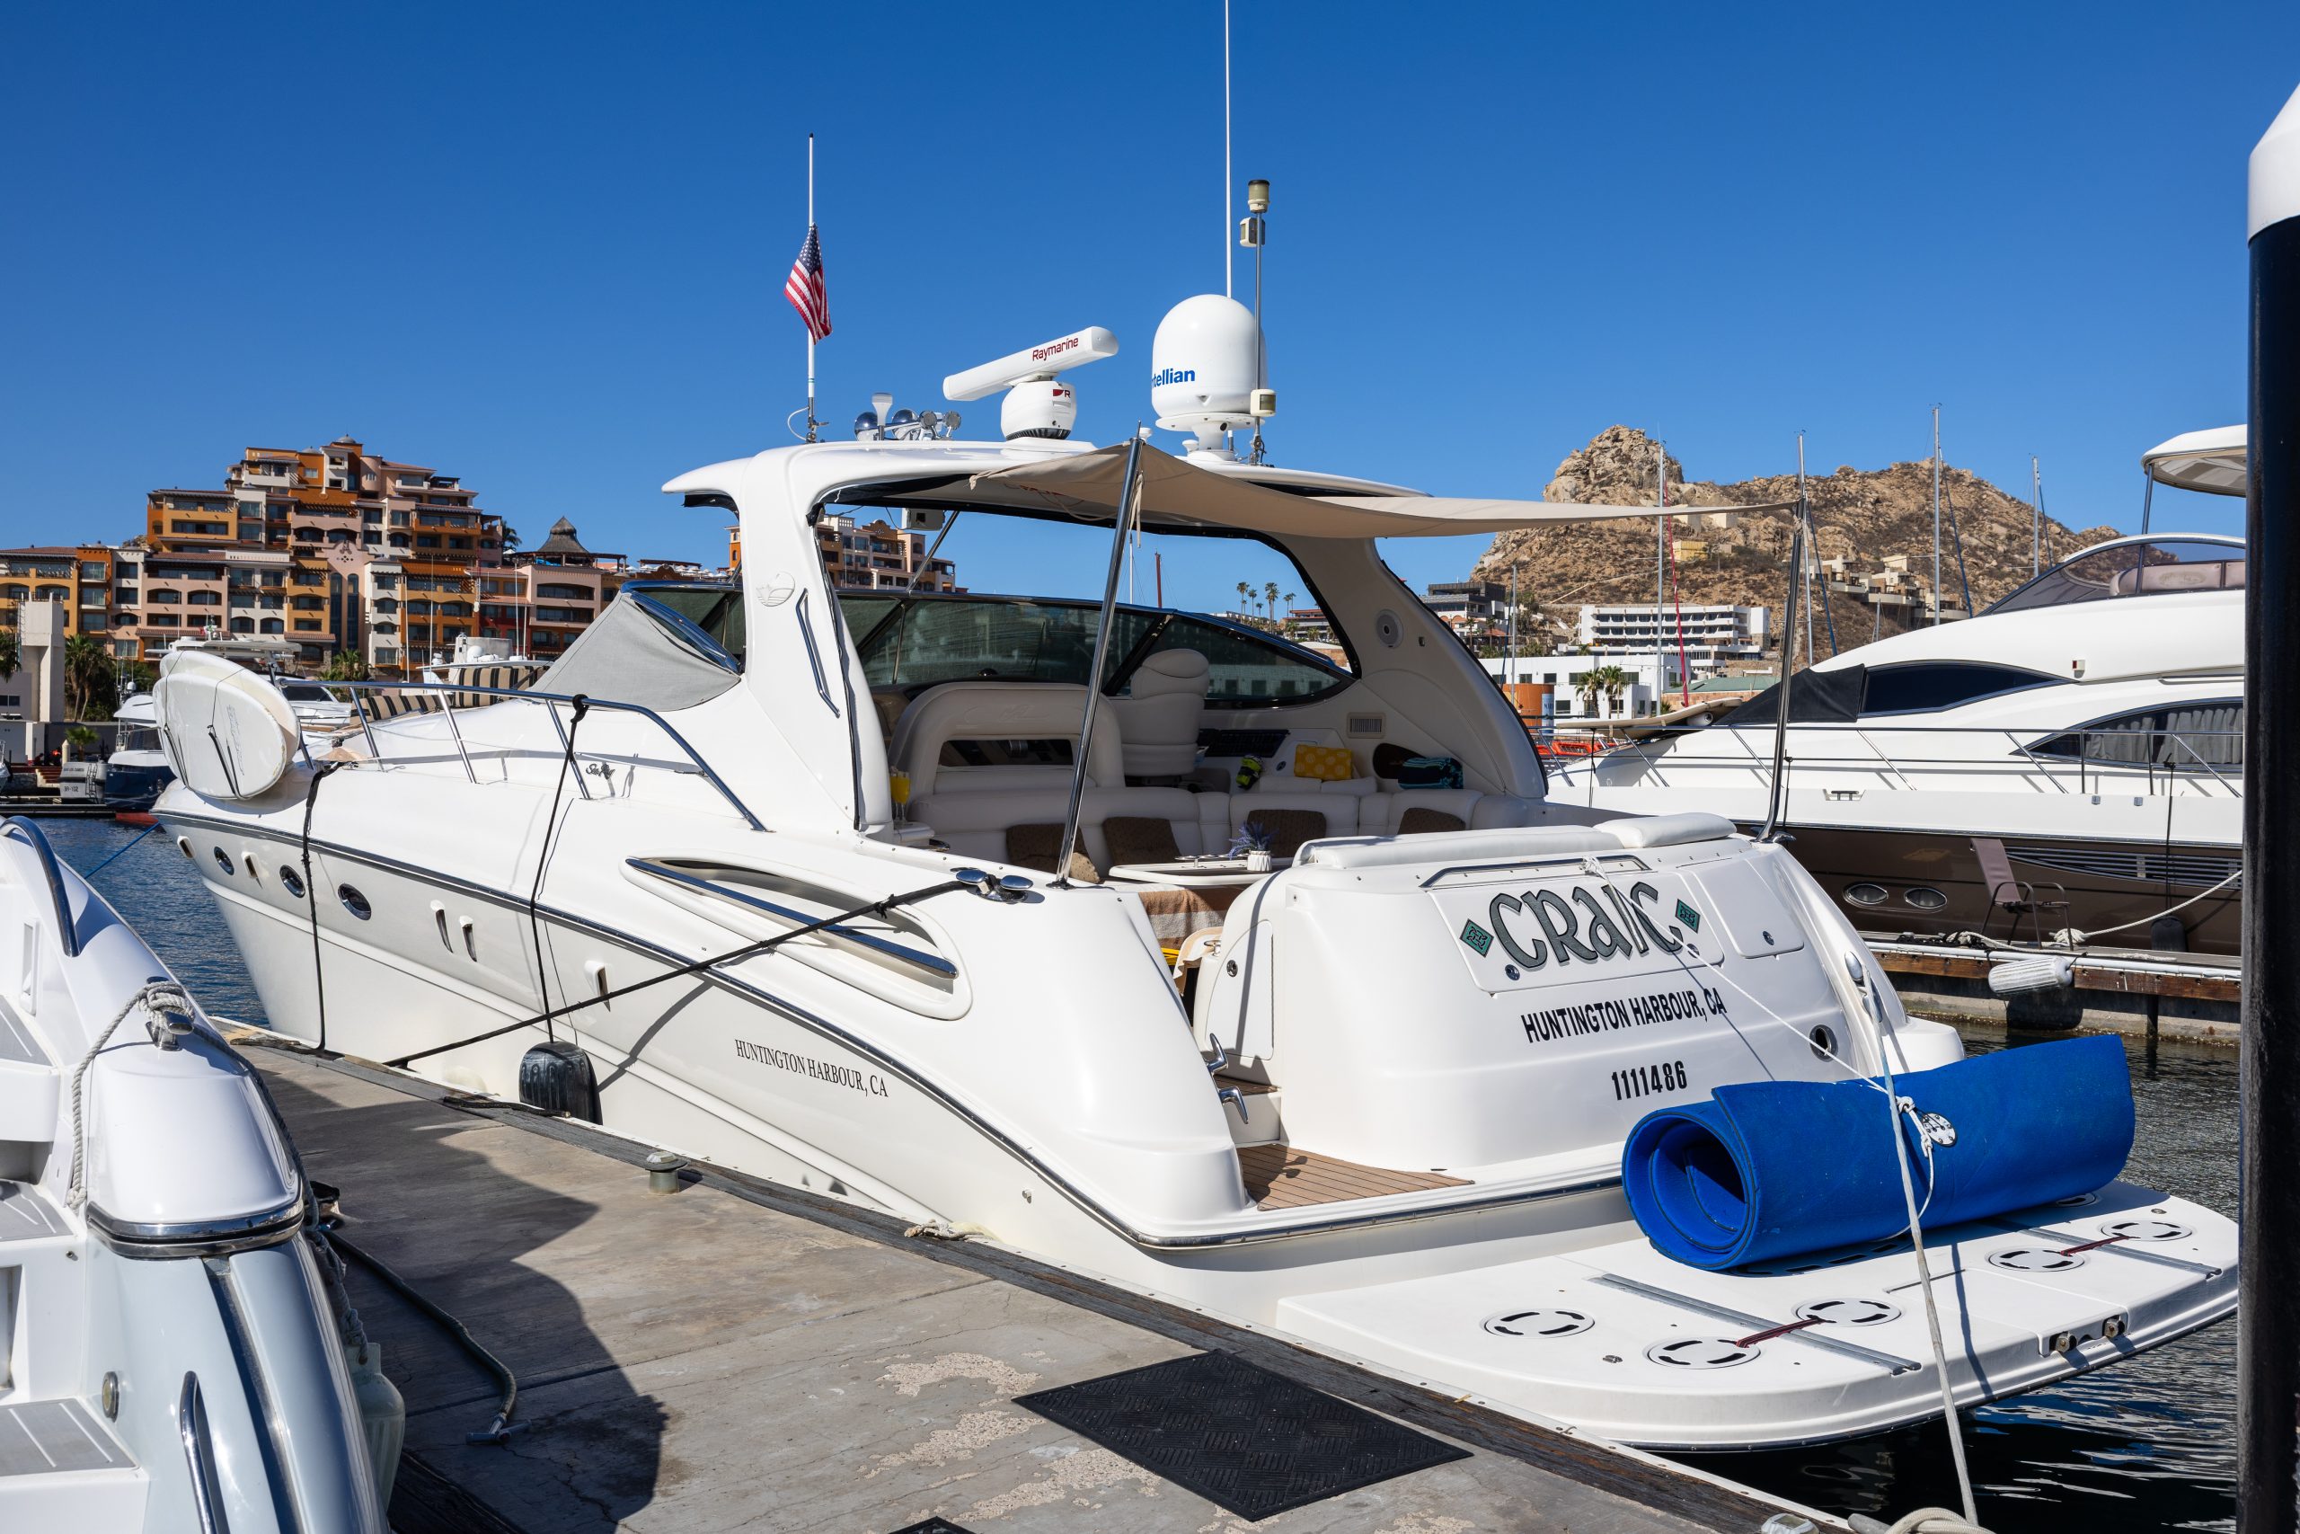
<svg viewBox="0 0 2300 1534"><path fill-rule="evenodd" d="M823 416L1106 324L1125 352L1074 382L1116 439L1157 317L1221 290L1219 37L1205 0L9 7L0 543L124 538L152 485L352 432L529 540L722 557L656 485L787 439L810 129ZM1789 469L1799 430L1826 471L1925 455L1939 402L1953 462L2024 488L2035 453L2082 527L2137 522L2144 446L2242 419L2288 0L1240 0L1235 39L1279 462L1539 494L1626 421L1695 478ZM982 586L1099 573L1076 540L950 552ZM1283 580L1214 552L1168 598L1247 577Z"/></svg>

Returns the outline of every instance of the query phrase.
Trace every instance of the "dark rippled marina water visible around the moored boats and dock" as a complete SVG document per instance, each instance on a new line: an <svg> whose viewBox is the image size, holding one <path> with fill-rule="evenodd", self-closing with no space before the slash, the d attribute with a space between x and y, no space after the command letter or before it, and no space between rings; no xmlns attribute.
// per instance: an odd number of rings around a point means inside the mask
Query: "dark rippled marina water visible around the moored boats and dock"
<svg viewBox="0 0 2300 1534"><path fill-rule="evenodd" d="M166 833L129 846L113 821L46 821L57 856L97 888L218 1017L262 1003L223 920ZM115 858L117 853L117 858ZM1999 1049L2001 1040L1969 1037ZM2128 1175L2236 1212L2236 1051L2128 1042L2139 1143ZM2029 1534L2229 1529L2236 1477L2236 1325L2116 1368L1966 1414L1983 1520ZM1955 1504L1939 1424L1851 1444L1697 1456L1693 1463L1810 1506L1897 1516Z"/></svg>

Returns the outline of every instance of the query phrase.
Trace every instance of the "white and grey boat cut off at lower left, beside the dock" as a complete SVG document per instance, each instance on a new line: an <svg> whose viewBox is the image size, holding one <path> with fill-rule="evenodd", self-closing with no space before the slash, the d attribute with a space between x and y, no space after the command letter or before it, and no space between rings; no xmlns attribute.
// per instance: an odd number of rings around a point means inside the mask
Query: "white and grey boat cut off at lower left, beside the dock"
<svg viewBox="0 0 2300 1534"><path fill-rule="evenodd" d="M0 920L0 1529L384 1534L255 1072L34 821Z"/></svg>

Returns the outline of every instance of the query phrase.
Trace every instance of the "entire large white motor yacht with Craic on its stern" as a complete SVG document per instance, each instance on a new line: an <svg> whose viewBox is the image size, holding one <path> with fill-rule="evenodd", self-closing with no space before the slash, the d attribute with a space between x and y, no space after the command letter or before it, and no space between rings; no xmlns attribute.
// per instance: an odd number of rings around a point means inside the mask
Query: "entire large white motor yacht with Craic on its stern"
<svg viewBox="0 0 2300 1534"><path fill-rule="evenodd" d="M1095 448L1033 398L1007 442L867 419L681 474L736 582L626 586L524 692L354 688L320 761L262 678L172 660L159 816L267 1012L1635 1444L1939 1412L1904 1237L1702 1272L1621 1155L1658 1104L1957 1035L1778 846L1548 798L1375 547L1654 511L1240 462L1203 402L1187 455ZM830 508L1111 529L1104 600L842 593ZM1348 665L1118 603L1132 527L1281 552ZM2123 1182L1923 1242L1964 1403L2233 1304L2231 1224Z"/></svg>

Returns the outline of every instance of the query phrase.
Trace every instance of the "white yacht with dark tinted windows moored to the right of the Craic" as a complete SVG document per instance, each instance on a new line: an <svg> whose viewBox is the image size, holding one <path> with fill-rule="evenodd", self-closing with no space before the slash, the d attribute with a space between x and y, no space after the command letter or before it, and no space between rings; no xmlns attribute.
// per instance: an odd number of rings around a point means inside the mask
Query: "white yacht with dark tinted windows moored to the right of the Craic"
<svg viewBox="0 0 2300 1534"><path fill-rule="evenodd" d="M2245 430L2144 455L2245 492ZM1716 724L1552 761L1550 796L1762 826L1778 688ZM1780 823L1863 929L2238 950L2245 545L2111 538L1964 623L1845 651L1789 692ZM2162 918L2162 922L2160 922Z"/></svg>

